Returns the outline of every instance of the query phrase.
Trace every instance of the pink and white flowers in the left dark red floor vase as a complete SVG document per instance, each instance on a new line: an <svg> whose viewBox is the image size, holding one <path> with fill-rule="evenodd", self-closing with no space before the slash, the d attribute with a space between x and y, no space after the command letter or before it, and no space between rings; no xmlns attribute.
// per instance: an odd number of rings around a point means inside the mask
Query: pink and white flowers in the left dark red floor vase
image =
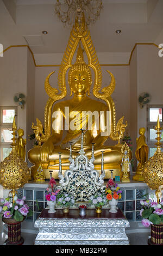
<svg viewBox="0 0 163 256"><path fill-rule="evenodd" d="M10 198L11 197L0 199L0 217L14 218L16 221L23 221L24 217L30 217L33 215L33 211L29 209L29 206L24 202L24 200L26 200L26 197L18 199L18 197L15 196L14 204L10 202Z"/></svg>

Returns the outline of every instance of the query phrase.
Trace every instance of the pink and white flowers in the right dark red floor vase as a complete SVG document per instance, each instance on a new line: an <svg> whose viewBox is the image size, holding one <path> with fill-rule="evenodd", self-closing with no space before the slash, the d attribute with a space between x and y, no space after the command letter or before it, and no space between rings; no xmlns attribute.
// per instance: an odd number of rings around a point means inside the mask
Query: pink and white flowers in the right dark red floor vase
<svg viewBox="0 0 163 256"><path fill-rule="evenodd" d="M140 210L140 216L142 219L142 224L145 227L149 227L151 224L163 224L163 201L158 204L155 202L154 194L151 194L152 199L140 200L142 209Z"/></svg>

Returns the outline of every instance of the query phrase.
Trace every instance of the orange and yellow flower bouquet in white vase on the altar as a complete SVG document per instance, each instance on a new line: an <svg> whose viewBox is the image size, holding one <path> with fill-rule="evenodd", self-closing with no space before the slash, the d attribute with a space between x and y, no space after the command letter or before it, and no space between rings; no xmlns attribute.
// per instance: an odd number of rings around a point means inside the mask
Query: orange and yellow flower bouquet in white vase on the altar
<svg viewBox="0 0 163 256"><path fill-rule="evenodd" d="M120 190L120 187L118 187L118 184L114 182L114 180L109 179L108 183L106 184L106 199L109 201L114 198L116 200L121 199L122 197L122 191Z"/></svg>

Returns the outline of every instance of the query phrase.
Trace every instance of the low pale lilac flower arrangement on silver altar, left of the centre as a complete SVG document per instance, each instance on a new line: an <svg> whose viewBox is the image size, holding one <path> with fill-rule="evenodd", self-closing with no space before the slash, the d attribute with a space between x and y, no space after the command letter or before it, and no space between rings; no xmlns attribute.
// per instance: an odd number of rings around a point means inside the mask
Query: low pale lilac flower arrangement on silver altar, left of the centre
<svg viewBox="0 0 163 256"><path fill-rule="evenodd" d="M69 208L70 206L73 206L74 203L74 197L65 193L64 191L60 191L57 194L57 204L60 205L62 208Z"/></svg>

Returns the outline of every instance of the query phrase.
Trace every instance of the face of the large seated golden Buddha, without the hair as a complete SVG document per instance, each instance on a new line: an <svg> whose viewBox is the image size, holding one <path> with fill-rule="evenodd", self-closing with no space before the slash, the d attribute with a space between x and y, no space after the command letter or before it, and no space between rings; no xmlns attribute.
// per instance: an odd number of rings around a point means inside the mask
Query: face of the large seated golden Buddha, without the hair
<svg viewBox="0 0 163 256"><path fill-rule="evenodd" d="M76 95L84 95L89 92L92 81L86 71L73 71L70 88Z"/></svg>

